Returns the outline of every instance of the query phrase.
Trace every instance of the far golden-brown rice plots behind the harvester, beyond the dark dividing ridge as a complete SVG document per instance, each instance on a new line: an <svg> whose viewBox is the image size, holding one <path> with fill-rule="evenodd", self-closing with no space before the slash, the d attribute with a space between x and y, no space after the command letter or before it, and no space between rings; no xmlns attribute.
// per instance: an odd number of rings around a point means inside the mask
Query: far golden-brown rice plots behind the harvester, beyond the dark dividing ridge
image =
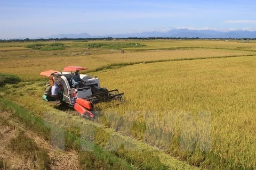
<svg viewBox="0 0 256 170"><path fill-rule="evenodd" d="M110 42L109 44L111 43L113 42ZM212 42L199 40L199 44L197 41L190 40L140 41L140 44L145 44L146 46L140 47L139 49L125 49L125 54L122 55L120 54L121 50L99 50L97 48L84 50L86 43L80 43L79 48L73 48L72 45L70 45L71 43L63 43L67 46L65 50L46 52L41 50L31 50L29 48L17 50L16 48L23 48L15 47L21 46L21 43L2 43L3 45L0 46L0 50L10 49L7 50L7 52L0 52L0 72L13 73L23 80L33 80L38 79L37 75L41 71L62 71L67 65L82 64L90 71L109 64L186 60L189 58L250 56L255 54L255 51L253 50L255 47L249 43L249 46L246 47L244 44L237 42L220 41L220 44L217 43L219 43L219 41ZM223 43L226 43L226 45L220 47ZM24 43L24 46L25 45L28 45L28 43ZM239 48L235 45L239 45ZM88 53L90 55L88 55ZM28 77L27 73L31 72L33 72L33 74L30 74Z"/></svg>

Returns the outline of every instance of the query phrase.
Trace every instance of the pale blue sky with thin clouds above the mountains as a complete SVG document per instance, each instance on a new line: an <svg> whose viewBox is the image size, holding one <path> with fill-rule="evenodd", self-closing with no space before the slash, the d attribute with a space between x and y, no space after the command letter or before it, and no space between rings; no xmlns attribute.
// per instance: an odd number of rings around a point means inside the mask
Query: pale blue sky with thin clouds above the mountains
<svg viewBox="0 0 256 170"><path fill-rule="evenodd" d="M256 30L255 0L1 0L0 39L171 29Z"/></svg>

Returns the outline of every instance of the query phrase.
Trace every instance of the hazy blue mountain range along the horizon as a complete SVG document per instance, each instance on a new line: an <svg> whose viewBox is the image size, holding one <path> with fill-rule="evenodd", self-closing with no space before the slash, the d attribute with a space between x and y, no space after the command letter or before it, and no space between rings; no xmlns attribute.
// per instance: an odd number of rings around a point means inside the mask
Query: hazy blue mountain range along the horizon
<svg viewBox="0 0 256 170"><path fill-rule="evenodd" d="M142 33L126 33L126 34L109 34L104 36L91 36L88 33L80 34L59 34L47 37L37 38L147 38L147 37L170 37L170 38L256 38L256 31L213 31L213 30L188 30L188 29L173 29L168 32L142 32Z"/></svg>

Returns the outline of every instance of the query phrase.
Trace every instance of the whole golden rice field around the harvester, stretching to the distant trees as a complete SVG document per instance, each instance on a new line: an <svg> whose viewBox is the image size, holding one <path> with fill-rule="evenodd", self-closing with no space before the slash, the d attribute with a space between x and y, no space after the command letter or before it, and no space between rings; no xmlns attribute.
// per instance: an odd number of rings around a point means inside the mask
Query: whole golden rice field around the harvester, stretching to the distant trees
<svg viewBox="0 0 256 170"><path fill-rule="evenodd" d="M63 42L65 50L50 52L1 44L0 50L7 52L0 53L0 72L18 75L27 83L13 92L9 87L10 94L5 95L40 115L45 106L34 105L35 101L40 102L45 78L39 77L39 73L61 71L67 65L85 66L100 79L102 87L125 93L125 103L121 105L98 105L100 116L95 117L94 123L157 147L193 166L255 169L254 43L130 42L146 46L126 48L121 54L117 49L83 50L91 42L67 41ZM42 87L35 88L35 81ZM31 94L24 94L26 91ZM31 95L38 99L32 101Z"/></svg>

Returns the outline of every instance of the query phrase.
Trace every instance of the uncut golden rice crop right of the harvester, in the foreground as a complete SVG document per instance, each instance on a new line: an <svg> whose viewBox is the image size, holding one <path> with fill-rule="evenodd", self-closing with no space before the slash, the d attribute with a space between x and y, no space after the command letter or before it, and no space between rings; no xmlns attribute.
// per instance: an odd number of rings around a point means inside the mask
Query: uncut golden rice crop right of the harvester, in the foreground
<svg viewBox="0 0 256 170"><path fill-rule="evenodd" d="M256 167L255 66L255 57L218 58L97 75L125 92L124 105L104 112L112 128L195 165L247 169Z"/></svg>

